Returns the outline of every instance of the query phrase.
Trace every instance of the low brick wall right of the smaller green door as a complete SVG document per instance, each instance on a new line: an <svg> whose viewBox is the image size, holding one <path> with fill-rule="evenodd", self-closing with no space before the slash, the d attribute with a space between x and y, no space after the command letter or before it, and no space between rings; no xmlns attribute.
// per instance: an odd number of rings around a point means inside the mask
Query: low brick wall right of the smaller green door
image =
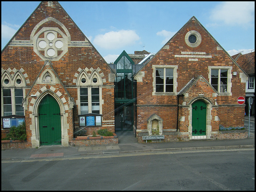
<svg viewBox="0 0 256 192"><path fill-rule="evenodd" d="M248 137L248 129L219 131L212 134L211 139L245 139Z"/></svg>

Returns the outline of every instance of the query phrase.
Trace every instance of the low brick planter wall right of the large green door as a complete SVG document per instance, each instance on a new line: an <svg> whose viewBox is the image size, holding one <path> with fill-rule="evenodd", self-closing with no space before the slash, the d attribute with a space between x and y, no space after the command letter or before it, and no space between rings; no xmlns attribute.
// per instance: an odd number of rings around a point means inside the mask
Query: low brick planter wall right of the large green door
<svg viewBox="0 0 256 192"><path fill-rule="evenodd" d="M90 146L90 145L108 145L108 144L118 144L118 137L116 133L113 133L114 136L97 136L97 137L88 137L88 136L78 136L70 142L72 146Z"/></svg>

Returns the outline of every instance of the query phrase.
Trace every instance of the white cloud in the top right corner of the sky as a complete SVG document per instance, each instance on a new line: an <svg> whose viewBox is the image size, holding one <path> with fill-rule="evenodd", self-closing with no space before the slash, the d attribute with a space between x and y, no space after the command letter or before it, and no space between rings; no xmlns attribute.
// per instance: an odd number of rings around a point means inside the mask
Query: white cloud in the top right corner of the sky
<svg viewBox="0 0 256 192"><path fill-rule="evenodd" d="M210 19L228 25L254 22L254 2L222 2L210 13Z"/></svg>

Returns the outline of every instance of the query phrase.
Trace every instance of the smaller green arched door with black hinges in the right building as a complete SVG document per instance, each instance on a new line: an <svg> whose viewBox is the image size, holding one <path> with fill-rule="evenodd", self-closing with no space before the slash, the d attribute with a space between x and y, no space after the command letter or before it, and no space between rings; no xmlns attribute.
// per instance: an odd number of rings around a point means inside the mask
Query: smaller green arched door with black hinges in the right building
<svg viewBox="0 0 256 192"><path fill-rule="evenodd" d="M192 135L206 135L206 103L198 100L192 104Z"/></svg>

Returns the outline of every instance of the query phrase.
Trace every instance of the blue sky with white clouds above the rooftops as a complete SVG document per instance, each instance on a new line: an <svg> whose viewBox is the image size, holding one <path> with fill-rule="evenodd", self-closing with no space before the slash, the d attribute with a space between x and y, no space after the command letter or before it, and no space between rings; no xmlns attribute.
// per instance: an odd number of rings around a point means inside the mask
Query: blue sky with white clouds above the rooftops
<svg viewBox="0 0 256 192"><path fill-rule="evenodd" d="M157 53L193 16L228 52L255 46L254 2L59 2L107 63ZM1 2L3 49L40 2Z"/></svg>

